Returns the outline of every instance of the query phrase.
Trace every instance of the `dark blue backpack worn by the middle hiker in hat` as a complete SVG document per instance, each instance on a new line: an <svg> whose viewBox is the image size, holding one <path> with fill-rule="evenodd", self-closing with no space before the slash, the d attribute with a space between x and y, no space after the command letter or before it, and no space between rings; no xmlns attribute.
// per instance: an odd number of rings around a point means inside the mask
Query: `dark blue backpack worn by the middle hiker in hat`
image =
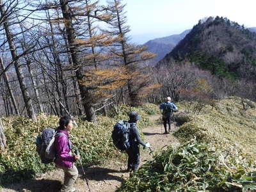
<svg viewBox="0 0 256 192"><path fill-rule="evenodd" d="M130 124L127 121L120 120L114 125L114 130L112 131L111 138L116 148L119 150L127 150L131 147L129 141L130 135Z"/></svg>

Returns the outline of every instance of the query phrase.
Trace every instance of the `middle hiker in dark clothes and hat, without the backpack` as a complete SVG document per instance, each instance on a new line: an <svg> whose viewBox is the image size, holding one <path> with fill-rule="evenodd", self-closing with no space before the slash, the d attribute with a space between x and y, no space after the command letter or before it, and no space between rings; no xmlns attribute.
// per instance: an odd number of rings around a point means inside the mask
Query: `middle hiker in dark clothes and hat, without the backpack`
<svg viewBox="0 0 256 192"><path fill-rule="evenodd" d="M131 142L131 147L127 149L128 154L128 163L127 163L127 171L130 172L130 177L133 172L135 172L140 164L140 147L139 145L143 145L143 147L150 147L150 144L144 143L136 126L136 123L141 118L141 116L136 112L132 111L129 114L129 124L130 124L130 135L129 141Z"/></svg>

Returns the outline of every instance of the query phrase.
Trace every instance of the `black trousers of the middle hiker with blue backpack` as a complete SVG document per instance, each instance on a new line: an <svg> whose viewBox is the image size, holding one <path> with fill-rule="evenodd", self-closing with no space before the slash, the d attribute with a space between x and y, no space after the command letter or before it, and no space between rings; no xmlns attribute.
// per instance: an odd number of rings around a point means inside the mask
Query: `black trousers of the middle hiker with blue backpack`
<svg viewBox="0 0 256 192"><path fill-rule="evenodd" d="M127 150L128 154L128 163L127 167L131 168L132 171L136 171L139 168L140 164L140 147L139 145L134 144Z"/></svg>

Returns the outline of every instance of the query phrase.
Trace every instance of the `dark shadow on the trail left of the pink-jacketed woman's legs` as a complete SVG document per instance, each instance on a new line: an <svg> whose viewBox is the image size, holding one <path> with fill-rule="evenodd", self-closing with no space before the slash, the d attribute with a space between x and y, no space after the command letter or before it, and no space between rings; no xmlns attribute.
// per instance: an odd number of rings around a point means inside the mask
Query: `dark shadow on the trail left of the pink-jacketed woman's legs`
<svg viewBox="0 0 256 192"><path fill-rule="evenodd" d="M56 192L61 189L61 182L59 180L35 180L31 179L28 182L22 182L22 184L4 186L6 189L12 189L19 192L31 191L31 192Z"/></svg>

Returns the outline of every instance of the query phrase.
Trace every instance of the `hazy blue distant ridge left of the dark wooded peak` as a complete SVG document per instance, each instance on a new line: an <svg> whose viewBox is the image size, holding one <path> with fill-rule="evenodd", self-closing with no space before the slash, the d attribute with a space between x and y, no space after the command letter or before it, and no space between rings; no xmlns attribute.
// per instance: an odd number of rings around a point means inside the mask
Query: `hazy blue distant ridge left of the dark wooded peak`
<svg viewBox="0 0 256 192"><path fill-rule="evenodd" d="M154 61L159 61L164 58L168 52L172 51L172 49L182 40L190 31L191 29L188 29L186 31L183 31L179 35L170 35L170 36L164 36L161 38L155 38L153 40L149 40L144 45L148 47L147 51L154 52L157 54L156 58L154 58Z"/></svg>

